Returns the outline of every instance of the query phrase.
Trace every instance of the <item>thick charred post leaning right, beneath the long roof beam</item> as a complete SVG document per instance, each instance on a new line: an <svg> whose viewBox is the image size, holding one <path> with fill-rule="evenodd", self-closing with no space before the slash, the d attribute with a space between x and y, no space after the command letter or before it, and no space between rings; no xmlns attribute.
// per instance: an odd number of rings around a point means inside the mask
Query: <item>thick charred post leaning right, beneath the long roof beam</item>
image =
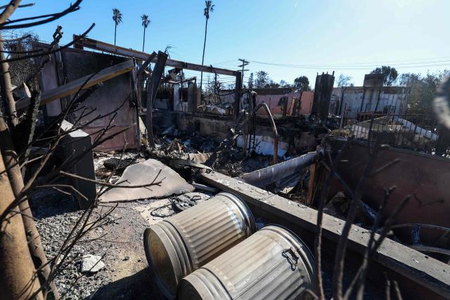
<svg viewBox="0 0 450 300"><path fill-rule="evenodd" d="M146 126L147 126L147 143L150 147L155 147L155 140L153 138L153 119L152 119L152 110L153 110L153 101L156 98L156 92L158 91L158 87L160 86L161 76L164 72L164 68L167 61L167 53L162 51L158 51L158 60L156 61L155 68L153 69L152 76L150 79L150 84L147 87L147 117L146 117Z"/></svg>

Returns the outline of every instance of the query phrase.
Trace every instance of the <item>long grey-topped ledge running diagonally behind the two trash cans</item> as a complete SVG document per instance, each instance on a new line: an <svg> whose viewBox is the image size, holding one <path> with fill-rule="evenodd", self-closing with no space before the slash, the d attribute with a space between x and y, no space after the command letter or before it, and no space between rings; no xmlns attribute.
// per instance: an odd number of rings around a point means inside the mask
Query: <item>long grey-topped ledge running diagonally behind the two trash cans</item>
<svg viewBox="0 0 450 300"><path fill-rule="evenodd" d="M314 235L317 233L316 209L297 205L288 199L269 193L237 178L231 178L218 172L201 174L201 181L219 190L231 192L244 200L253 214L264 216L269 222L280 223L292 228L302 235L302 240L313 247ZM324 246L335 251L335 242L342 235L345 224L335 217L323 214ZM352 251L348 259L360 263L367 249L371 235L367 230L352 225L348 235L347 249ZM374 234L376 240L380 237ZM372 262L376 268L371 269L368 277L372 280L383 278L383 272L398 278L401 292L411 299L446 299L450 297L450 266L430 256L417 252L403 244L386 238L377 247ZM419 261L419 263L417 263ZM372 272L373 270L373 272Z"/></svg>

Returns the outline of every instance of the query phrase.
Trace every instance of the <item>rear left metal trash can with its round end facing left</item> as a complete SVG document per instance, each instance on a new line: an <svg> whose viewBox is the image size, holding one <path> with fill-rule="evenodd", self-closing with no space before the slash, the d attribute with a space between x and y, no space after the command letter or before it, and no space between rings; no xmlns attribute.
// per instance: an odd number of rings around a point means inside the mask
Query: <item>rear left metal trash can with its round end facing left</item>
<svg viewBox="0 0 450 300"><path fill-rule="evenodd" d="M147 228L143 246L160 291L174 299L181 278L255 233L250 209L236 195L206 202Z"/></svg>

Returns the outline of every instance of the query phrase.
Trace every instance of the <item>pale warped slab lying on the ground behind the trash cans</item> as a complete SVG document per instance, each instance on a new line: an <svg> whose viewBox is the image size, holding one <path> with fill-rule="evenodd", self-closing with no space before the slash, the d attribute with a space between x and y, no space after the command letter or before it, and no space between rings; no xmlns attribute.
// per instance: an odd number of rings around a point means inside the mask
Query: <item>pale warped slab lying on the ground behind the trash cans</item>
<svg viewBox="0 0 450 300"><path fill-rule="evenodd" d="M162 183L144 188L120 188L120 186L150 184L153 181L162 181ZM104 193L100 201L122 202L148 198L155 199L192 192L193 190L194 187L181 178L176 171L156 159L148 159L145 162L127 167L117 181L117 188L112 188Z"/></svg>

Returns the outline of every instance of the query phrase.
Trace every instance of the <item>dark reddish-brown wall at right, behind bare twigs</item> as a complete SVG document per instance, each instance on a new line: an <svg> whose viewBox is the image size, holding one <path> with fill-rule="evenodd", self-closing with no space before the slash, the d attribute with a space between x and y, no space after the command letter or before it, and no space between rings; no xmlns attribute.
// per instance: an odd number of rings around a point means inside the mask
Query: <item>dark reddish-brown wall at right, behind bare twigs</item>
<svg viewBox="0 0 450 300"><path fill-rule="evenodd" d="M338 172L351 188L356 187L363 174L367 153L366 145L354 144L342 155L342 160L348 162L338 164ZM450 159L410 150L382 149L373 163L373 170L395 159L399 162L367 178L364 202L373 208L379 207L383 188L397 185L385 207L385 216L392 214L403 197L411 195L412 199L400 211L395 224L422 223L450 228ZM397 230L397 233L406 239L410 236L408 230L404 230L404 234ZM421 231L422 241L430 245L435 245L441 235L430 228Z"/></svg>

